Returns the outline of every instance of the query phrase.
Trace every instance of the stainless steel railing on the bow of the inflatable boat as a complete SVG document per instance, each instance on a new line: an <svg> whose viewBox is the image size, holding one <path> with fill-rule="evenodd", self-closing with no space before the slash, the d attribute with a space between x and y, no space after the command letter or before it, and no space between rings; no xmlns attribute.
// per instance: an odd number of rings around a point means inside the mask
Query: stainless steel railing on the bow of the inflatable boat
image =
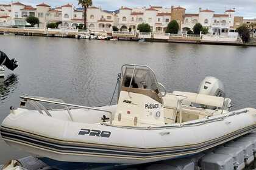
<svg viewBox="0 0 256 170"><path fill-rule="evenodd" d="M43 111L44 111L50 117L51 117L51 114L49 113L48 109L46 109L46 107L44 107L43 104L41 104L39 102L55 104L55 105L59 105L59 106L65 106L66 110L68 111L69 117L71 118L72 121L73 121L73 117L71 115L69 107L76 107L76 108L81 108L81 109L107 112L107 113L110 114L110 124L112 124L113 113L110 110L103 110L103 109L98 109L98 108L95 108L95 107L80 106L80 105L77 105L77 104L69 104L69 103L65 103L63 100L59 100L59 99L55 99L55 98L34 97L34 96L29 96L29 95L28 96L21 96L20 98L24 100L23 102L28 102L32 106L34 106L35 109L37 109L38 112L40 112L40 114L43 114Z"/></svg>

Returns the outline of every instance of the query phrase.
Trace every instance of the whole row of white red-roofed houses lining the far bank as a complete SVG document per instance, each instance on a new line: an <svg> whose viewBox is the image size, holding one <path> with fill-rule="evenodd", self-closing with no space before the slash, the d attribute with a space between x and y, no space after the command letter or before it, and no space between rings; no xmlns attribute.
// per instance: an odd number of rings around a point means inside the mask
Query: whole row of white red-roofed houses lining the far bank
<svg viewBox="0 0 256 170"><path fill-rule="evenodd" d="M108 12L98 7L87 9L87 28L94 31L112 32L115 25L119 30L137 30L138 24L148 23L152 32L164 33L172 19L179 22L181 32L193 29L199 22L203 27L208 27L209 32L221 35L234 28L235 10L226 10L223 14L216 14L212 10L199 10L199 13L185 13L182 7L164 8L149 6L149 8L121 7L118 12ZM46 27L50 22L62 21L62 27L69 29L77 25L84 25L84 10L77 9L73 4L62 5L51 9L50 5L41 3L35 7L13 2L10 5L0 4L0 24L28 25L26 17L37 16L40 20L39 27Z"/></svg>

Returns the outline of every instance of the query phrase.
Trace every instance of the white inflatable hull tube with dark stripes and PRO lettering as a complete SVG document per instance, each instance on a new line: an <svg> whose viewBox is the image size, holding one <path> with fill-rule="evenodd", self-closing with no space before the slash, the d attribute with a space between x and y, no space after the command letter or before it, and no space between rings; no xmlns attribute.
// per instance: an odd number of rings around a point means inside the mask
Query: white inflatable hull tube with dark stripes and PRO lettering
<svg viewBox="0 0 256 170"><path fill-rule="evenodd" d="M247 108L202 122L138 129L74 123L27 111L5 118L1 135L10 146L53 160L140 164L197 154L252 132L255 114Z"/></svg>

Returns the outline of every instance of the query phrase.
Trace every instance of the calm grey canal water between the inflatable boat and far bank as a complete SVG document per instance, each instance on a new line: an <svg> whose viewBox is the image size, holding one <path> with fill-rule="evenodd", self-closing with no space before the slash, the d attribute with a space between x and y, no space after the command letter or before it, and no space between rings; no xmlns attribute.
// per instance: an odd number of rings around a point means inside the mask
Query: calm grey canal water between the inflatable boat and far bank
<svg viewBox="0 0 256 170"><path fill-rule="evenodd" d="M152 67L169 92L197 92L205 77L217 77L233 109L256 107L255 47L1 35L0 50L19 61L18 69L0 79L0 122L10 106L19 106L21 94L108 104L125 63ZM0 164L25 155L0 139Z"/></svg>

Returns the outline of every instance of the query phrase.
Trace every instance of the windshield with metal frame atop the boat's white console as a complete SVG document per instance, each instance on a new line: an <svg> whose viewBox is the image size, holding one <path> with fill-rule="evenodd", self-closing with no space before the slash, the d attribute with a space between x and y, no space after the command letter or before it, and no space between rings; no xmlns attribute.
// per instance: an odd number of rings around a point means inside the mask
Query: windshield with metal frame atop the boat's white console
<svg viewBox="0 0 256 170"><path fill-rule="evenodd" d="M154 72L146 66L124 67L122 90L135 92L157 100L162 103L162 97L159 94L158 83ZM132 90L133 89L133 90ZM137 90L135 90L137 89Z"/></svg>

